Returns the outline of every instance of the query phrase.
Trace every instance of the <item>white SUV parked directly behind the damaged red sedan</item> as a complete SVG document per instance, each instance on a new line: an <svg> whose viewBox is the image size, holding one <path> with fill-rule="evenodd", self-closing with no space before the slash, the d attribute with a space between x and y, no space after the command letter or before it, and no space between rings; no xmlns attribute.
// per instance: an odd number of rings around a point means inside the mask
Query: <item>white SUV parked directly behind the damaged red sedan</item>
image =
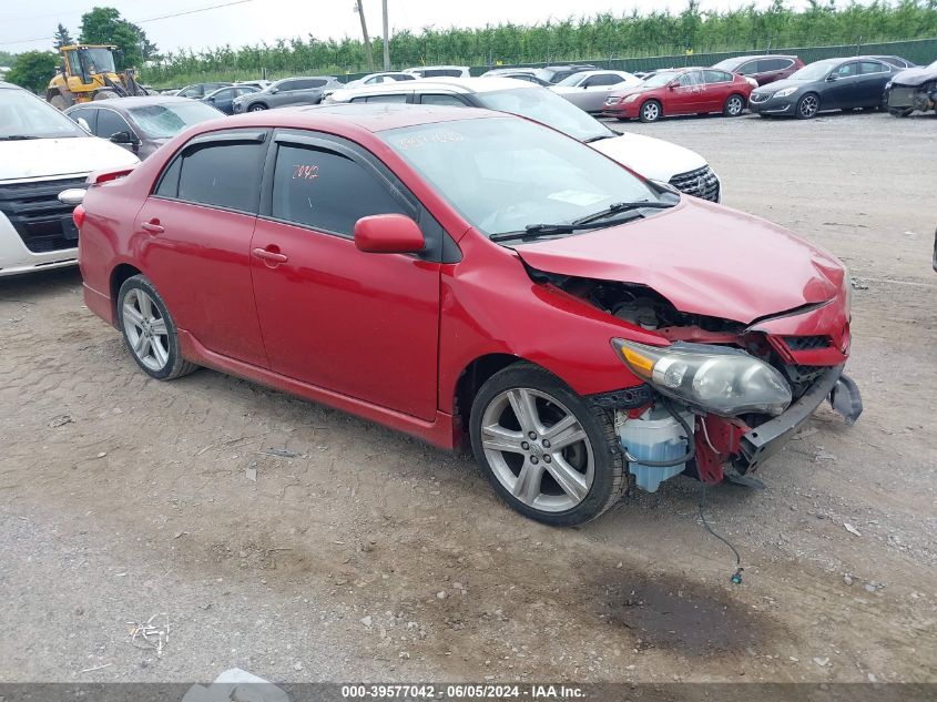
<svg viewBox="0 0 937 702"><path fill-rule="evenodd" d="M660 139L611 130L554 92L512 78L438 78L336 90L327 102L406 102L486 108L552 126L643 175L719 202L722 184L700 154Z"/></svg>

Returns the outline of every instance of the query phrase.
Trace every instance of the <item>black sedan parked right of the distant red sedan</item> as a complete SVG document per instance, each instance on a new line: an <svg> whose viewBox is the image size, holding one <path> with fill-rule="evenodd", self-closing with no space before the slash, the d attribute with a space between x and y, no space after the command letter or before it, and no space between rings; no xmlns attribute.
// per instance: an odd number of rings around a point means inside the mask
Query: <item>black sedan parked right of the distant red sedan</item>
<svg viewBox="0 0 937 702"><path fill-rule="evenodd" d="M872 57L824 59L748 96L748 110L762 116L787 115L809 120L827 110L878 109L885 85L898 73Z"/></svg>

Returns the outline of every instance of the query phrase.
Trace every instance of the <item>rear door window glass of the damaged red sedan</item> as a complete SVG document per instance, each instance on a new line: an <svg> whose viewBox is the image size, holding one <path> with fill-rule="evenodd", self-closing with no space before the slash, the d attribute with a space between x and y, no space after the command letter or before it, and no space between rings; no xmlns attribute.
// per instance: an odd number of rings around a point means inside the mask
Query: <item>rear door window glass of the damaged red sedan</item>
<svg viewBox="0 0 937 702"><path fill-rule="evenodd" d="M185 149L163 172L156 195L240 212L257 212L261 141L220 141Z"/></svg>

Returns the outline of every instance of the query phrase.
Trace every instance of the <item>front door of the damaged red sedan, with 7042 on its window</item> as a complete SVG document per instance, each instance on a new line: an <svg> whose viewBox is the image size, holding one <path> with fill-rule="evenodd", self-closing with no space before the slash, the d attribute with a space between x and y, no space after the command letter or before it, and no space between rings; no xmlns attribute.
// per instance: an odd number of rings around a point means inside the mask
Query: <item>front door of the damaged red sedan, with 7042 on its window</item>
<svg viewBox="0 0 937 702"><path fill-rule="evenodd" d="M268 172L251 248L271 368L434 419L440 264L364 253L354 242L360 217L406 214L426 234L428 214L383 165L336 138L278 134ZM441 246L441 228L434 233Z"/></svg>

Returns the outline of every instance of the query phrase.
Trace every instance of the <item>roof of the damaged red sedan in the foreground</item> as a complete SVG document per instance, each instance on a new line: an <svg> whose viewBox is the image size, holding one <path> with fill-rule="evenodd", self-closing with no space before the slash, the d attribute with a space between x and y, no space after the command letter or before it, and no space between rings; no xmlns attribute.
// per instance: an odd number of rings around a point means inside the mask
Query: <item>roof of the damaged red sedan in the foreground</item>
<svg viewBox="0 0 937 702"><path fill-rule="evenodd" d="M358 128L368 132L383 132L400 126L472 120L479 118L508 116L491 110L466 110L437 105L413 105L398 103L327 104L283 108L248 112L224 120L232 126L283 126L297 129L320 129L329 132L348 131ZM207 124L207 123L206 123Z"/></svg>

